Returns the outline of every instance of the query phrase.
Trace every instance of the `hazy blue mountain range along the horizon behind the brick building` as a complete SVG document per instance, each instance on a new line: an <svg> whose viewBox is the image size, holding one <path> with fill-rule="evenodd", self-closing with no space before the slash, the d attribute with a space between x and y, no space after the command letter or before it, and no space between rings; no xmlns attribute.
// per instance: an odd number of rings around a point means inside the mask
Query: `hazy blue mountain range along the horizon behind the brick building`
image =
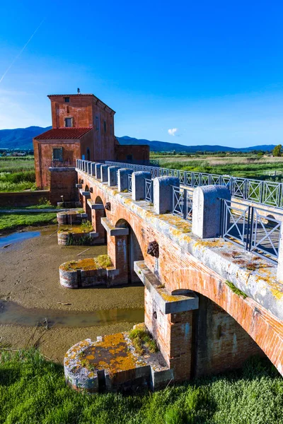
<svg viewBox="0 0 283 424"><path fill-rule="evenodd" d="M47 126L42 128L42 126L28 126L28 128L16 128L16 129L1 129L0 130L0 148L18 148L18 149L32 149L33 148L33 138L42 134L42 132L48 131L52 128ZM166 141L149 141L144 139L134 139L129 136L117 137L117 140L120 144L147 144L151 151L166 151L176 153L195 153L197 151L210 151L210 152L248 152L248 151L272 151L275 148L273 144L265 144L262 146L251 146L246 148L233 148L226 146L184 146L183 144L178 143L166 143Z"/></svg>

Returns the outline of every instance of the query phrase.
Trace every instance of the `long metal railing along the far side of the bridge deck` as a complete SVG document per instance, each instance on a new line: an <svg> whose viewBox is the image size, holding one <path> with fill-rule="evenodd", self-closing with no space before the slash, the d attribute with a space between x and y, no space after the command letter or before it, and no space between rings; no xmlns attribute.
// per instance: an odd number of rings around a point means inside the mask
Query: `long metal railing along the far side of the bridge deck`
<svg viewBox="0 0 283 424"><path fill-rule="evenodd" d="M133 163L118 163L105 160L107 165L127 167L136 171L151 172L151 177L178 177L180 184L185 187L200 187L203 185L225 185L229 187L231 195L238 199L253 201L266 206L283 208L283 183L261 181L260 179L248 179L231 177L230 175L206 174L202 172L190 172L173 170L162 167L136 165Z"/></svg>

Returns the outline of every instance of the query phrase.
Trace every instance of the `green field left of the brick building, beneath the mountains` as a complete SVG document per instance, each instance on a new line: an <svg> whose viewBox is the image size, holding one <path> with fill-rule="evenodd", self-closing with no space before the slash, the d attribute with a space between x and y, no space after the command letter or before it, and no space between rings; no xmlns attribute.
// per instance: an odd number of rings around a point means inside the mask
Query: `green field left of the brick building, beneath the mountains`
<svg viewBox="0 0 283 424"><path fill-rule="evenodd" d="M0 158L0 192L35 190L33 156Z"/></svg>

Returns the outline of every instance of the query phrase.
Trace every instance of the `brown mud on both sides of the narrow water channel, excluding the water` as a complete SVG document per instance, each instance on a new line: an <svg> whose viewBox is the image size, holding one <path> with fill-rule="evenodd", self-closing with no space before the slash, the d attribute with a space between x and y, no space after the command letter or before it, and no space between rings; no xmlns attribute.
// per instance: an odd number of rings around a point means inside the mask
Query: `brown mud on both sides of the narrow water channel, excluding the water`
<svg viewBox="0 0 283 424"><path fill-rule="evenodd" d="M122 322L105 323L105 319L95 326L59 326L54 323L42 323L35 329L34 326L1 324L5 308L0 309L0 343L12 348L25 346L40 346L40 351L48 358L62 362L64 353L74 343L84 338L96 339L102 334L111 334L117 331L126 331L132 328L137 314L131 311L140 311L144 307L144 288L142 285L128 285L115 288L89 288L71 290L62 288L59 284L59 265L71 259L95 257L107 253L106 246L95 246L77 256L88 247L64 247L57 244L57 235L51 235L56 226L49 226L40 230L40 237L17 242L0 249L0 299L14 302L25 307L28 312L36 314L37 310L67 312L67 315L80 312L102 310L127 310ZM38 228L29 229L38 230ZM69 305L63 305L68 303ZM76 318L76 317L75 317ZM115 320L114 320L115 321ZM21 322L18 321L19 323ZM92 325L93 323L91 323ZM79 324L80 325L80 324ZM51 328L50 328L51 327ZM46 329L47 328L47 329Z"/></svg>

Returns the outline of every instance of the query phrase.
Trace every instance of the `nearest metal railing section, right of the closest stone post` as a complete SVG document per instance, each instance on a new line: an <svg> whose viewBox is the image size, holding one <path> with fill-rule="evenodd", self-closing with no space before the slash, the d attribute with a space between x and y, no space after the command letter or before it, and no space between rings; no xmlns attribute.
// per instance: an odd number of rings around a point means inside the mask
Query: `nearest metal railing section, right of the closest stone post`
<svg viewBox="0 0 283 424"><path fill-rule="evenodd" d="M224 240L274 263L279 254L282 220L266 213L270 211L254 206L239 208L233 201L221 199L220 233Z"/></svg>

